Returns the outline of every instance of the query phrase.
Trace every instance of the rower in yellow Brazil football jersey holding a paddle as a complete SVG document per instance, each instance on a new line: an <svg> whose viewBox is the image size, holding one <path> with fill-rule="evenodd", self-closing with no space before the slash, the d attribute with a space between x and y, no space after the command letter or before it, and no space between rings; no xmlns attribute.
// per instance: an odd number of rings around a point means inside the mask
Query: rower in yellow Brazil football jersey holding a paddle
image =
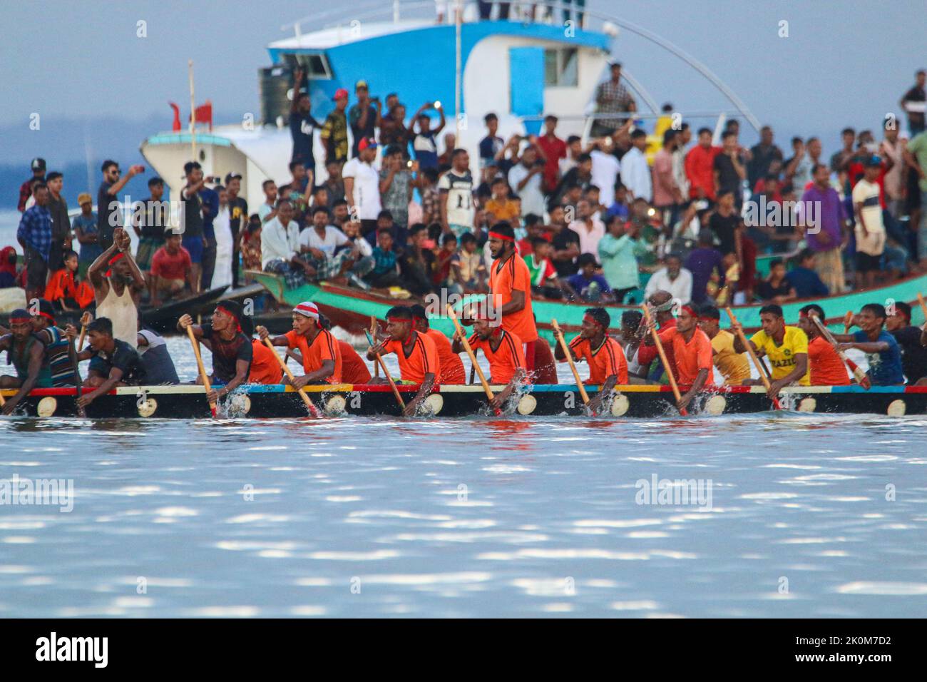
<svg viewBox="0 0 927 682"><path fill-rule="evenodd" d="M797 327L786 327L782 318L780 305L770 303L759 309L759 318L763 328L747 341L754 347L757 357L767 355L772 365L772 381L768 395L776 397L783 387L797 382L799 386L809 386L811 375L808 372L808 338ZM731 328L740 327L740 323ZM740 338L734 340L734 351L743 353Z"/></svg>

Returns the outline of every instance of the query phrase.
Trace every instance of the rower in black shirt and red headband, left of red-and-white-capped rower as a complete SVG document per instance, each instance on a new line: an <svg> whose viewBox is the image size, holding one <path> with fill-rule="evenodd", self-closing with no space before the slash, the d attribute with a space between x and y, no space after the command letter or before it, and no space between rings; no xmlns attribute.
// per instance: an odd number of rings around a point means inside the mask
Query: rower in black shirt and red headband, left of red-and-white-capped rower
<svg viewBox="0 0 927 682"><path fill-rule="evenodd" d="M212 313L211 324L195 325L190 315L183 315L177 322L177 330L184 334L187 327L192 327L193 336L212 353L210 384L215 383L209 393L210 402L219 402L248 381L254 352L251 340L242 333L241 317L241 303L222 301ZM197 383L200 381L197 378ZM224 385L217 389L217 384Z"/></svg>

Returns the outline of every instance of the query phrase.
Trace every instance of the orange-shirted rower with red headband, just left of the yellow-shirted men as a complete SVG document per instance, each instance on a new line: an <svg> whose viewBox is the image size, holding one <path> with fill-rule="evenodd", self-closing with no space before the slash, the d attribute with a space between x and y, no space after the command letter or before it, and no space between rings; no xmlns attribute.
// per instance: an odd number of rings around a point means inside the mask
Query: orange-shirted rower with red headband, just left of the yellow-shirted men
<svg viewBox="0 0 927 682"><path fill-rule="evenodd" d="M650 329L654 328L654 318L651 317L650 327L644 337L644 344L655 345ZM679 309L675 327L667 327L658 335L660 342L673 350L672 372L679 386L689 386L688 392L682 395L676 405L681 412L692 402L695 394L704 386L714 385L712 379L712 353L711 341L702 329L698 327L698 314L691 305L683 305Z"/></svg>

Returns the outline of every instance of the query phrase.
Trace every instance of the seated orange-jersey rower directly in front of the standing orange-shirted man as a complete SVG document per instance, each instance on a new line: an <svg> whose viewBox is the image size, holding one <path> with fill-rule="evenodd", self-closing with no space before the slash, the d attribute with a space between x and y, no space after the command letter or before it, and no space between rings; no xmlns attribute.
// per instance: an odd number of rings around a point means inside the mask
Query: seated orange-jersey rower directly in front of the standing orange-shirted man
<svg viewBox="0 0 927 682"><path fill-rule="evenodd" d="M480 349L486 354L486 359L489 360L489 382L505 384L502 392L497 393L489 402L489 405L496 409L502 409L502 405L505 405L516 388L529 383L524 344L513 332L498 324L494 326L493 320L490 320L484 311L471 313L468 320L473 322L474 333L467 341L474 354ZM456 331L451 349L454 353L464 351L464 343Z"/></svg>

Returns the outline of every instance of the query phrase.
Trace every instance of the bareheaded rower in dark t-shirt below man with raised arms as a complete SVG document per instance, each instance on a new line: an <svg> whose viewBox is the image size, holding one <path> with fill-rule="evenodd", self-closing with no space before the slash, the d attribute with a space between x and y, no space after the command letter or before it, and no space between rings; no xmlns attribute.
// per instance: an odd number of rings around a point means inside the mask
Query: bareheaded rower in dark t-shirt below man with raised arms
<svg viewBox="0 0 927 682"><path fill-rule="evenodd" d="M115 238L115 236L114 236ZM68 325L68 336L73 339L77 328ZM78 362L90 360L84 391L77 404L86 407L96 398L120 386L144 386L147 381L145 365L134 345L113 337L113 323L108 317L97 317L87 325L87 348L77 354Z"/></svg>

